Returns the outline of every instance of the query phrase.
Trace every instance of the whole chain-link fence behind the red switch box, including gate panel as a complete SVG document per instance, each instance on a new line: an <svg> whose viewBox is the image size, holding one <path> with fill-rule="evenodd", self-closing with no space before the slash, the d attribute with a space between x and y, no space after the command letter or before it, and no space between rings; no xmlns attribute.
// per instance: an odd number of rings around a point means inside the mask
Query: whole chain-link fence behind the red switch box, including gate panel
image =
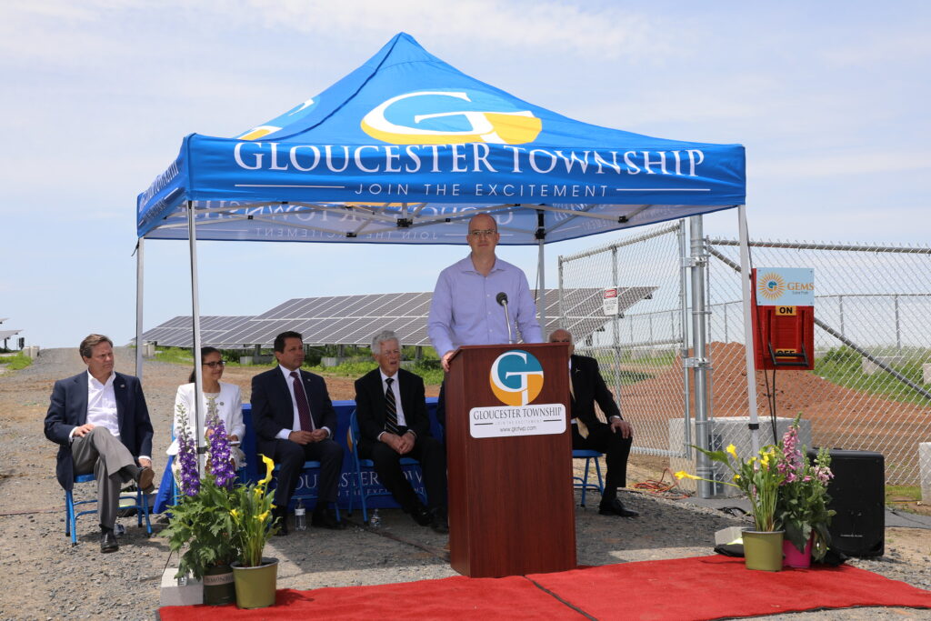
<svg viewBox="0 0 931 621"><path fill-rule="evenodd" d="M749 402L738 242L692 224L696 243L681 221L560 257L560 289L652 291L603 317L600 331L575 335L576 349L599 359L620 396L633 451L668 455L674 467L691 463L696 434L711 448L731 441L715 430L747 416ZM761 443L802 412L806 443L882 452L888 483L918 485L919 443L931 441L931 247L756 240L750 251L754 266L811 267L816 280L815 370L757 371ZM692 421L696 394L707 427ZM749 442L745 423L727 433Z"/></svg>

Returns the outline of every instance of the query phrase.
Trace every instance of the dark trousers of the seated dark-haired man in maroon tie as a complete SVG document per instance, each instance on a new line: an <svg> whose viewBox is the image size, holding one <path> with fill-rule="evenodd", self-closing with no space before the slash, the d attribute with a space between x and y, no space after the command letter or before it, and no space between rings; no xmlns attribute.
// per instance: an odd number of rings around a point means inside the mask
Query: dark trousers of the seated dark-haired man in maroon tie
<svg viewBox="0 0 931 621"><path fill-rule="evenodd" d="M275 490L275 506L287 510L290 497L294 495L298 483L301 482L301 473L304 472L304 462L320 462L320 475L317 479L317 507L324 507L326 503L335 503L339 493L340 471L343 469L343 447L332 439L319 442L298 444L290 439L275 440L275 454L270 455L275 463L280 465L277 473L277 489Z"/></svg>

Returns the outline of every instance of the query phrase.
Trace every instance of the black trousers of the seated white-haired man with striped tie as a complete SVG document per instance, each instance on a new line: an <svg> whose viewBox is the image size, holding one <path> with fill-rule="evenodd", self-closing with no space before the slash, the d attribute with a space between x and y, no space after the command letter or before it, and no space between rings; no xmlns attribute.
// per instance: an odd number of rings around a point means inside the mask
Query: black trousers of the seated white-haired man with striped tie
<svg viewBox="0 0 931 621"><path fill-rule="evenodd" d="M371 459L385 489L406 512L410 513L418 501L411 481L404 476L404 470L400 465L401 457L413 457L420 462L424 473L427 506L446 506L446 450L439 439L430 436L418 437L411 452L400 455L385 442L362 438L358 442L358 454L363 459Z"/></svg>

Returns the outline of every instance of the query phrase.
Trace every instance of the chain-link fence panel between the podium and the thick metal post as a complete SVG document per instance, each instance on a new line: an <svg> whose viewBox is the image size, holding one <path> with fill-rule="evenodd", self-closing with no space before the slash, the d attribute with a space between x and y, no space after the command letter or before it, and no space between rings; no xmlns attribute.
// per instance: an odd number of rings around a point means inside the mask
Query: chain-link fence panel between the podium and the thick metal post
<svg viewBox="0 0 931 621"><path fill-rule="evenodd" d="M575 351L598 359L605 383L620 395L625 418L636 425L634 452L678 454L670 447L670 418L682 418L689 377L681 365L687 334L682 260L683 222L560 257L560 290L618 287L615 317L591 334L575 334ZM636 292L630 295L629 293ZM560 316L564 311L560 309Z"/></svg>

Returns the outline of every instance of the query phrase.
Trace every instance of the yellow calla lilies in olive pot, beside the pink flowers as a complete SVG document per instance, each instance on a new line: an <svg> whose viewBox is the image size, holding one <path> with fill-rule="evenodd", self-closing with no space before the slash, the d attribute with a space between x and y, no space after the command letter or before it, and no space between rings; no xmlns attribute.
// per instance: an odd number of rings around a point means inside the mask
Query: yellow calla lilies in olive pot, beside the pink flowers
<svg viewBox="0 0 931 621"><path fill-rule="evenodd" d="M782 569L782 535L776 517L776 499L785 475L779 469L779 450L768 444L747 460L741 459L733 444L724 451L708 451L694 446L712 461L723 464L732 473L731 481L722 481L747 494L752 506L755 530L744 531L744 560L748 569L778 572ZM677 479L703 479L684 470L676 473ZM714 482L714 481L711 481Z"/></svg>

